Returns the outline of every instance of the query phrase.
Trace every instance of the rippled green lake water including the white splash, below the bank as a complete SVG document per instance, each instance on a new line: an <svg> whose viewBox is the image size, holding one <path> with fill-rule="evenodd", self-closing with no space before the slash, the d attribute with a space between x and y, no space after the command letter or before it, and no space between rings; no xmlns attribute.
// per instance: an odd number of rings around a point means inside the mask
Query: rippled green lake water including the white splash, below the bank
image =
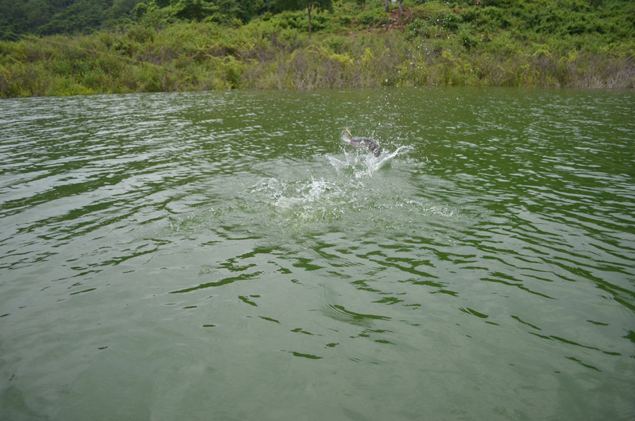
<svg viewBox="0 0 635 421"><path fill-rule="evenodd" d="M0 126L1 420L635 419L633 92L45 97Z"/></svg>

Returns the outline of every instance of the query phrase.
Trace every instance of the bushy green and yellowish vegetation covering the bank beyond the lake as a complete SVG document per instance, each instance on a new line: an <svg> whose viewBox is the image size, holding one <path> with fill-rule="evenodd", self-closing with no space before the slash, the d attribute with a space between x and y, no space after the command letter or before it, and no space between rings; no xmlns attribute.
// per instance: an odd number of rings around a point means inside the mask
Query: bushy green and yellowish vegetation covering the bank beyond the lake
<svg viewBox="0 0 635 421"><path fill-rule="evenodd" d="M627 0L405 0L401 17L397 4L387 13L383 0L334 0L330 10L313 9L310 40L306 9L252 11L243 22L214 8L179 18L173 6L186 0L159 1L136 2L139 16L109 29L0 41L0 97L381 85L635 88L635 4Z"/></svg>

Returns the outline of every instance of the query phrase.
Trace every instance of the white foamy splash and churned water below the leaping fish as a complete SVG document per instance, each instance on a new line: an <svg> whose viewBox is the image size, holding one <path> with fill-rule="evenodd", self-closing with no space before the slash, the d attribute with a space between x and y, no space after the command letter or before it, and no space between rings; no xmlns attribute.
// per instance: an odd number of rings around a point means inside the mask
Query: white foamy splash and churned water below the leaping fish
<svg viewBox="0 0 635 421"><path fill-rule="evenodd" d="M270 232L267 235L270 238L284 237L284 232L310 235L316 230L346 232L359 228L361 232L401 232L421 224L422 216L424 220L453 223L461 220L464 216L461 208L423 197L410 175L415 170L413 165L418 168L421 164L396 160L407 150L408 146L399 146L392 152L385 149L375 158L363 150L351 153L344 148L341 155L315 154L308 165L269 162L268 177L240 183L249 184L248 191L224 201L239 200L242 204L232 205L229 215L225 213L222 218L232 218L234 214L235 219L249 220L258 225L255 230ZM393 165L388 165L391 162ZM380 172L382 168L385 170ZM438 182L434 177L426 181ZM224 194L228 191L235 193L238 188L225 186ZM246 215L238 216L236 212Z"/></svg>

